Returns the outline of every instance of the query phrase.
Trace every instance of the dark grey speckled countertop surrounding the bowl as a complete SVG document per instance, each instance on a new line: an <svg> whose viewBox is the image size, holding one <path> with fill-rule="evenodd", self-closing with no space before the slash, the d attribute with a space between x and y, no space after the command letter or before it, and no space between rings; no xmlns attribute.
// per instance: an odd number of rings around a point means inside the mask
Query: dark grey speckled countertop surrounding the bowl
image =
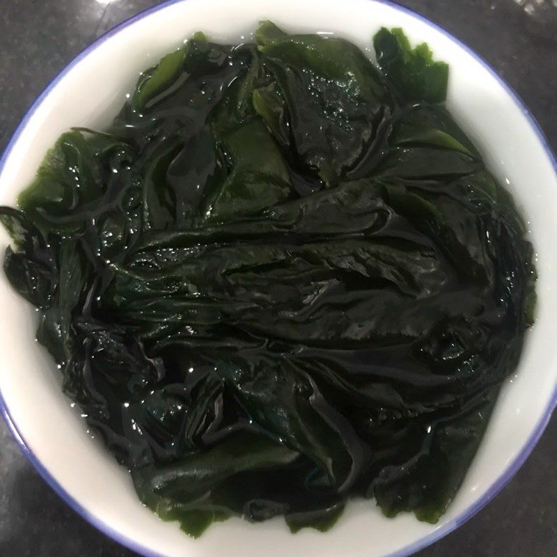
<svg viewBox="0 0 557 557"><path fill-rule="evenodd" d="M233 1L233 0L230 0ZM303 1L303 0L300 0ZM0 0L0 150L54 75L153 0ZM403 0L483 56L557 150L557 0ZM533 185L535 186L535 185ZM499 496L420 557L557 556L557 416ZM0 420L0 557L132 557L27 462Z"/></svg>

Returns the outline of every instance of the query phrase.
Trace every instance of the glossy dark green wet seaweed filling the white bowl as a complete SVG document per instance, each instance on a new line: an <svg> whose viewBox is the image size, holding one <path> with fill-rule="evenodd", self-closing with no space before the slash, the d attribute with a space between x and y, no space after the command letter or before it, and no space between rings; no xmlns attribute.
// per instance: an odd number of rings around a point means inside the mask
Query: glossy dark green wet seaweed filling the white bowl
<svg viewBox="0 0 557 557"><path fill-rule="evenodd" d="M400 29L379 68L263 22L146 71L72 130L4 270L141 498L190 535L329 528L354 496L437 521L531 324L531 245ZM371 505L372 503L370 503Z"/></svg>

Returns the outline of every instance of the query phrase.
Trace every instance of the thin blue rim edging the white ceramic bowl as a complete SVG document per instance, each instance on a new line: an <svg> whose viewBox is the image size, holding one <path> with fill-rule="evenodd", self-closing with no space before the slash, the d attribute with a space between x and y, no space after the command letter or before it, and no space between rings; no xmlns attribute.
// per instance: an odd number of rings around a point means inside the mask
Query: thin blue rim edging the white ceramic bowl
<svg viewBox="0 0 557 557"><path fill-rule="evenodd" d="M93 52L93 50L95 50L97 47L102 45L103 42L105 42L112 36L116 35L116 33L118 33L119 31L122 31L126 27L138 22L140 19L143 19L144 17L147 17L152 13L167 8L168 6L171 6L175 3L180 3L185 1L187 0L167 0L166 2L157 4L157 6L152 6L151 8L143 10L142 12L134 15L133 17L130 17L130 19L125 20L125 22L122 22L118 24L116 27L113 27L113 29L107 31L107 33L104 33L104 35L102 35L100 38L95 40L95 42L93 42L92 45L89 45L80 54L78 54L60 73L58 73L58 75L56 75L56 77L51 81L51 83L47 86L47 88L45 88L45 90L42 91L40 96L37 98L35 102L33 102L31 108L27 111L24 118L17 126L17 129L15 130L13 136L8 142L8 146L6 147L6 150L4 150L3 155L0 159L0 175L3 172L3 168L6 165L6 161L8 160L10 152L13 150L13 147L15 146L15 143L17 143L19 136L22 134L26 125L29 123L31 116L33 116L33 113L35 113L35 111L38 109L40 104L42 104L42 102L46 99L46 97L49 95L52 89L54 89L54 87L58 85L58 82L61 81L61 79L65 76L65 74L67 74L72 68L74 68L74 66L77 65L83 58L88 56L88 54ZM551 150L551 147L549 146L549 142L547 141L544 132L542 132L542 129L538 124L538 121L535 120L532 113L526 108L526 105L524 104L524 102L522 102L521 98L512 89L512 87L499 74L497 74L497 72L481 56L476 54L476 52L474 52L470 47L465 45L464 42L457 39L455 36L453 36L452 33L447 31L443 27L441 27L439 24L432 22L430 19L427 19L427 17L419 13L416 13L414 10L411 10L405 6L400 6L400 4L390 0L370 0L370 1L375 1L376 3L385 4L386 6L390 6L395 10L398 10L403 13L407 13L408 15L411 15L411 17L414 17L416 19L421 20L422 22L425 22L425 24L432 27L433 29L436 29L440 33L444 34L444 36L448 37L450 40L455 42L462 49L464 49L464 51L470 54L476 61L478 61L478 63L480 63L480 65L482 65L490 74L492 74L492 76L496 79L496 81L498 81L499 85L503 87L505 92L512 98L515 105L520 109L521 113L524 115L526 120L528 120L528 123L530 124L532 130L535 132L536 136L538 137L538 141L540 141L547 157L551 161L551 164L553 165L553 168L557 173L557 159L554 155L554 152ZM385 557L408 557L411 554L416 553L416 551L420 551L421 549L424 549L430 544L437 542L441 538L444 538L447 534L454 531L459 526L462 526L462 524L464 524L464 522L468 521L471 517L473 517L473 515L476 515L476 513L479 510L481 510L485 505L487 505L487 503L489 503L489 501L491 501L494 498L494 496L496 496L496 494L498 494L501 491L501 489L503 489L503 487L509 482L509 480L513 476L515 476L515 474L522 466L522 464L524 464L528 456L531 454L533 448L538 443L540 437L542 436L542 433L544 432L545 428L547 427L547 424L549 423L551 414L553 413L556 407L557 407L557 386L556 389L554 390L553 396L549 401L549 405L544 410L544 414L542 415L542 418L535 426L533 432L528 438L528 441L526 441L524 446L522 446L521 450L516 455L515 459L510 464L508 464L507 468L501 474L501 476L499 476L499 478L497 478L494 481L494 483L489 487L489 489L487 489L487 491L483 494L483 496L481 496L480 499L478 499L478 501L473 503L473 505L469 506L469 508L464 510L455 519L447 522L443 526L425 535L423 538L420 538L419 540L416 540L415 542L412 542L411 544L408 544L407 546L402 547L401 549L398 549L397 551L394 551L393 553ZM119 544L127 547L128 549L131 549L132 551L135 551L136 553L143 555L144 557L167 557L163 554L157 553L157 551L152 551L152 549L149 549L148 547L144 547L141 544L138 544L135 540L132 540L132 538L127 538L125 535L122 535L120 532L112 528L109 524L103 522L101 519L91 514L91 512L86 510L86 508L84 508L84 506L81 505L79 501L74 499L68 492L66 492L65 489L58 483L58 480L56 480L56 478L52 476L52 474L45 468L45 466L42 465L40 460L38 460L38 457L36 457L33 451L31 451L29 446L27 446L25 439L19 433L19 430L17 430L17 425L15 424L15 422L13 421L10 415L10 411L8 409L8 406L6 405L6 401L3 399L3 395L1 391L0 391L0 413L2 414L6 423L8 424L8 427L12 432L13 437L15 437L17 444L19 444L19 446L22 448L23 453L27 457L29 462L33 464L34 468L38 471L40 476L42 476L43 480L45 480L45 482L50 487L52 487L52 489L54 489L54 492L56 492L56 494L58 494L58 496L60 496L61 499L65 501L65 503L70 505L70 507L75 512L81 515L81 517L86 519L86 521L88 521L90 524L95 526L95 528L100 530L109 538L112 538Z"/></svg>

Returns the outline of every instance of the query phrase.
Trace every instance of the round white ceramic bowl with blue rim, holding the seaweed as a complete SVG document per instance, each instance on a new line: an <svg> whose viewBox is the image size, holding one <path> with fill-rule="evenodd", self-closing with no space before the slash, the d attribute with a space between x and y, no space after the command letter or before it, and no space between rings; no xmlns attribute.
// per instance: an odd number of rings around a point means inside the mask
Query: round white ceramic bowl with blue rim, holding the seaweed
<svg viewBox="0 0 557 557"><path fill-rule="evenodd" d="M13 204L47 148L72 126L102 128L133 90L139 73L202 30L215 41L250 39L259 19L288 31L336 33L371 54L380 26L401 26L450 64L448 108L476 141L492 172L508 185L538 251L538 319L517 375L505 384L483 444L450 509L438 524L413 515L386 519L372 501L354 501L329 533L292 535L282 519L230 519L199 540L157 519L130 477L61 393L51 359L37 343L36 316L0 272L0 406L26 455L47 482L88 521L147 556L406 556L452 531L491 499L533 449L556 403L557 176L535 121L515 93L446 31L405 8L370 0L171 1L114 29L86 49L42 93L0 162L0 203ZM6 245L6 235L0 245Z"/></svg>

